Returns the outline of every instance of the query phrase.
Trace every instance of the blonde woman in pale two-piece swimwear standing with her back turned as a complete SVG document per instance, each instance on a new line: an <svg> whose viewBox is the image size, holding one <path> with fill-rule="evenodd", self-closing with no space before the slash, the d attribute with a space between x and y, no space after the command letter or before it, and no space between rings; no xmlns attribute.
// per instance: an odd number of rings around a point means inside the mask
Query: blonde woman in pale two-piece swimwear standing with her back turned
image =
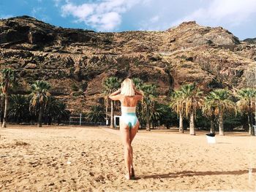
<svg viewBox="0 0 256 192"><path fill-rule="evenodd" d="M136 105L141 100L143 94L135 89L135 85L127 78L121 83L121 88L110 94L112 100L121 101L120 133L124 144L124 162L127 166L127 174L124 176L127 180L135 177L135 171L132 164L132 139L138 131L140 122L136 117Z"/></svg>

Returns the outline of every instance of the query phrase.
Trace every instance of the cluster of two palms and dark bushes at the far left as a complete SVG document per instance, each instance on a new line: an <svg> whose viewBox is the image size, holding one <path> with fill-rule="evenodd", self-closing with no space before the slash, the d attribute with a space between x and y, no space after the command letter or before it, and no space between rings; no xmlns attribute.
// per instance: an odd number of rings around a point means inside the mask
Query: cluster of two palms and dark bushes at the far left
<svg viewBox="0 0 256 192"><path fill-rule="evenodd" d="M4 101L2 127L7 127L7 116L9 119L15 120L16 123L34 122L37 119L38 127L42 127L42 120L50 125L52 120L61 123L61 120L69 119L70 112L67 110L66 104L50 94L48 82L38 80L31 84L31 93L28 96L12 94L16 86L15 72L12 69L1 70L1 106ZM2 109L2 107L0 108Z"/></svg>

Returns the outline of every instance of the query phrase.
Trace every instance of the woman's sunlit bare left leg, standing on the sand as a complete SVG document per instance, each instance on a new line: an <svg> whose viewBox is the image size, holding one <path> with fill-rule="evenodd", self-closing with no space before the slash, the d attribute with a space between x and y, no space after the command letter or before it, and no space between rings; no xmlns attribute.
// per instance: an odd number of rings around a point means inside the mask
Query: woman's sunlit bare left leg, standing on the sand
<svg viewBox="0 0 256 192"><path fill-rule="evenodd" d="M127 179L130 179L130 167L132 163L131 159L131 144L129 142L129 127L127 125L124 125L124 123L120 123L120 133L121 133L121 139L124 145L124 163L127 166L127 172L128 177Z"/></svg>

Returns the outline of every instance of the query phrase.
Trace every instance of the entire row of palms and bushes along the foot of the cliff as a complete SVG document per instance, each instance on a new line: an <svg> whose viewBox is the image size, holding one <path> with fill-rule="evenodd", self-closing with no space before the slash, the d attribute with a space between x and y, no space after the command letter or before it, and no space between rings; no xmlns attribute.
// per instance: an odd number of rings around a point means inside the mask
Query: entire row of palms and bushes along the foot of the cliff
<svg viewBox="0 0 256 192"><path fill-rule="evenodd" d="M180 132L184 133L184 129L189 127L189 133L195 135L196 126L209 126L212 133L218 128L219 134L224 135L226 122L226 126L227 123L232 126L243 125L249 134L255 135L255 88L233 91L214 89L204 93L195 83L186 84L170 94L169 104L162 104L157 101L157 85L145 83L140 78L132 80L136 89L143 92L143 100L138 103L136 111L141 126L146 126L148 131L155 126L178 126ZM48 82L36 81L31 84L31 93L28 96L12 94L16 82L12 69L1 70L0 104L4 105L3 127L6 127L7 116L17 123L37 119L39 127L42 126L42 120L50 124L52 120L60 123L61 120L69 119L70 112L66 104L50 94ZM110 127L114 127L114 111L118 104L108 99L108 96L120 86L121 80L118 77L105 79L102 92L105 107L102 104L91 106L90 111L86 113L86 120L97 123L110 118Z"/></svg>

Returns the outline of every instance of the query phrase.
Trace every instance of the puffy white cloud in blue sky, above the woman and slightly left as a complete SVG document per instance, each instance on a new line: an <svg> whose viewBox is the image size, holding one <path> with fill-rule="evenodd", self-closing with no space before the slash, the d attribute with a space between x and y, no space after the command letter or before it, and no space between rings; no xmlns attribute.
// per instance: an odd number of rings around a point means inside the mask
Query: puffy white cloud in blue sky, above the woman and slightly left
<svg viewBox="0 0 256 192"><path fill-rule="evenodd" d="M60 0L54 0L60 1ZM75 5L71 1L61 6L61 15L72 15L76 22L83 22L98 31L113 31L121 24L121 15L135 4L149 4L151 0L102 0Z"/></svg>

